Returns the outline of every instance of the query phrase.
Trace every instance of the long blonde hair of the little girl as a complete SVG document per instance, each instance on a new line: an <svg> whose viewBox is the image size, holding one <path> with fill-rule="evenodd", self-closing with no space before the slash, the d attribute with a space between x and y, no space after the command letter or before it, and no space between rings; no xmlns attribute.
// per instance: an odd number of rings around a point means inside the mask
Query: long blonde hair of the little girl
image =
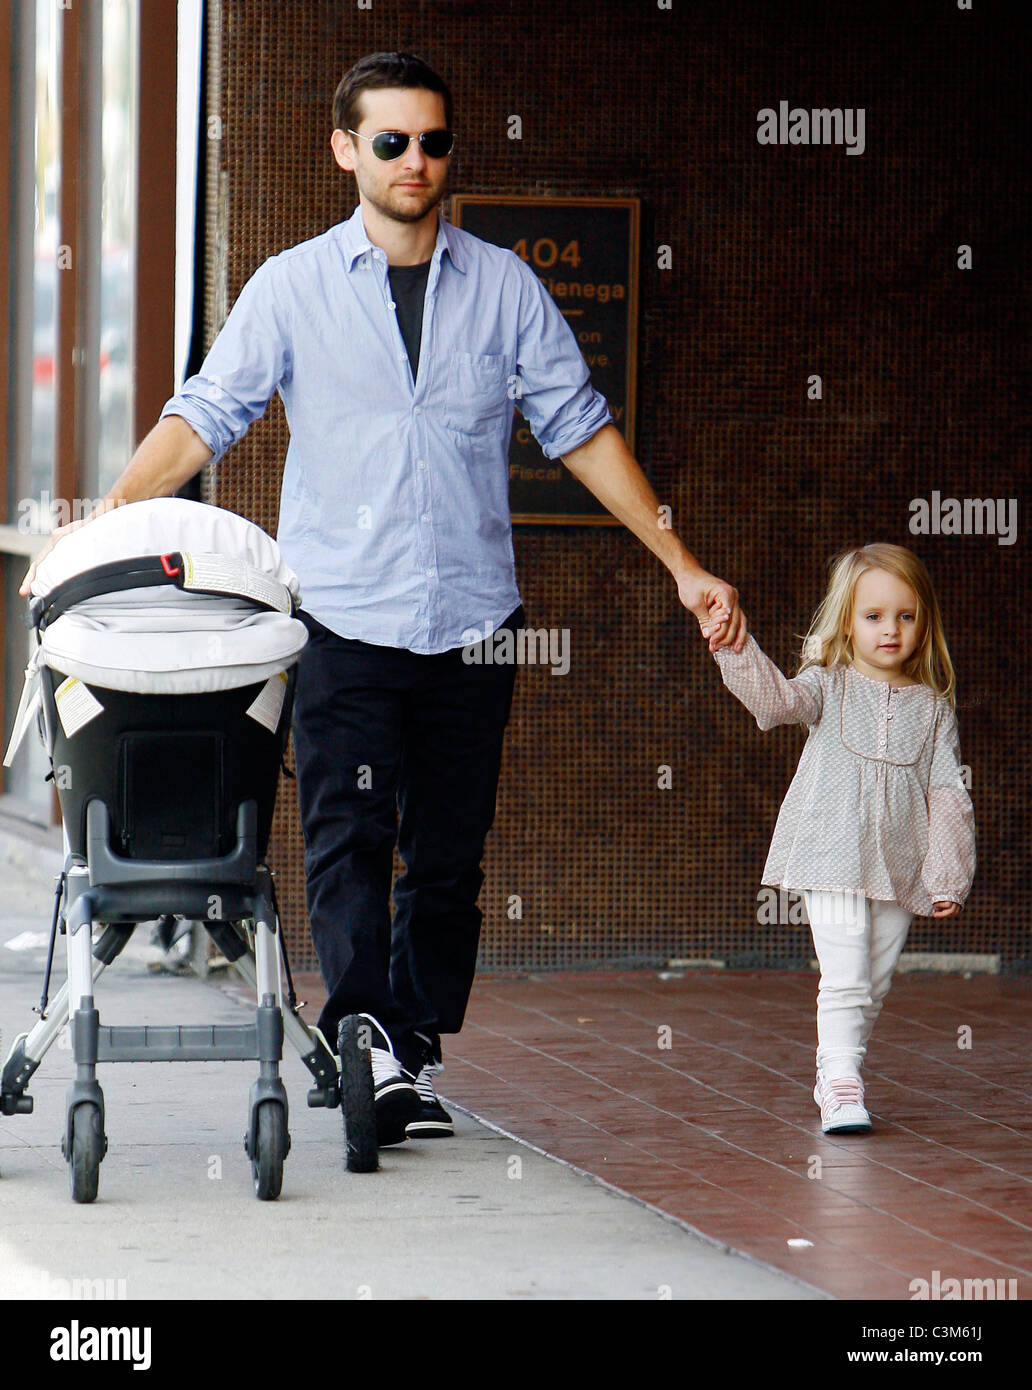
<svg viewBox="0 0 1032 1390"><path fill-rule="evenodd" d="M808 666L853 662L853 602L857 582L868 570L886 570L914 589L919 637L914 655L903 664L903 674L922 685L930 685L936 695L954 705L957 680L932 578L924 562L903 545L878 541L857 550L846 550L832 562L828 592L803 641L800 671L805 671Z"/></svg>

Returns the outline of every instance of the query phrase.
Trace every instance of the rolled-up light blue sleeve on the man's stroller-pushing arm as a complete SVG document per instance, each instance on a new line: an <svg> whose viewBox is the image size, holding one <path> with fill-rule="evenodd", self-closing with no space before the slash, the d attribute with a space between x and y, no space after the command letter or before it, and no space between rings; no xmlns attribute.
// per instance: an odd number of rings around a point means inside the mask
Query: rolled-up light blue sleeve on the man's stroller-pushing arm
<svg viewBox="0 0 1032 1390"><path fill-rule="evenodd" d="M275 257L260 265L236 297L196 375L164 406L181 416L221 459L266 413L273 393L289 378L287 309L275 295Z"/></svg>

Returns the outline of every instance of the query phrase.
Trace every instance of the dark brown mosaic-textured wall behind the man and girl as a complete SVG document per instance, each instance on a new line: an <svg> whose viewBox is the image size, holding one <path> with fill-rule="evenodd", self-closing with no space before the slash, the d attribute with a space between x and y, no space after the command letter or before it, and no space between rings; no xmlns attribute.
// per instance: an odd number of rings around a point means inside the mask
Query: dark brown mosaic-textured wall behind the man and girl
<svg viewBox="0 0 1032 1390"><path fill-rule="evenodd" d="M886 539L926 560L958 670L981 869L964 915L918 922L910 944L1017 966L1029 958L1022 49L982 4L786 8L211 3L207 332L264 257L352 213L330 111L366 53L419 53L451 85L451 192L640 197L636 453L783 669L836 550ZM761 146L757 113L782 99L862 107L864 153ZM522 140L506 138L512 114ZM206 496L275 534L285 446L274 400ZM933 491L1019 498L1017 543L911 535L911 499ZM481 966L804 963L805 930L757 916L803 733L758 731L629 532L517 528L516 557L529 623L570 630L572 669L519 671ZM287 780L270 860L312 963Z"/></svg>

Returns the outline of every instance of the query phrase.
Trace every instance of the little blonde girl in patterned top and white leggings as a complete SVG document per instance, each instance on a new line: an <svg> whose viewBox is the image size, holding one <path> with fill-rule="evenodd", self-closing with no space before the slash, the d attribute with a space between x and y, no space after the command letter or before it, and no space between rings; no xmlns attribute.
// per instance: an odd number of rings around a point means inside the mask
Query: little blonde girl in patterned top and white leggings
<svg viewBox="0 0 1032 1390"><path fill-rule="evenodd" d="M752 637L741 652L713 656L762 730L809 728L762 883L803 892L814 933L822 1129L869 1130L861 1068L911 919L960 912L975 872L932 581L904 546L848 550L835 562L794 680Z"/></svg>

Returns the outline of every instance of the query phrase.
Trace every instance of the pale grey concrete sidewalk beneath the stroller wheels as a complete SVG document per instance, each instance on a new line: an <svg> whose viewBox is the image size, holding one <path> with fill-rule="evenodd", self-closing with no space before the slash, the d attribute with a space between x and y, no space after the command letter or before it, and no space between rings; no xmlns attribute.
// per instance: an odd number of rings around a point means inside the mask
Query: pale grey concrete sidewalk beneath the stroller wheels
<svg viewBox="0 0 1032 1390"><path fill-rule="evenodd" d="M0 831L4 1058L35 1017L54 863ZM154 973L161 952L147 934L100 977L102 1022L242 1017L220 977ZM458 1106L453 1140L384 1150L378 1173L348 1173L339 1111L307 1109L309 1073L292 1051L277 1202L255 1198L242 1144L257 1063L128 1063L100 1068L110 1151L97 1201L78 1207L60 1152L71 1066L67 1048L51 1048L31 1086L35 1112L0 1118L0 1298L826 1297Z"/></svg>

